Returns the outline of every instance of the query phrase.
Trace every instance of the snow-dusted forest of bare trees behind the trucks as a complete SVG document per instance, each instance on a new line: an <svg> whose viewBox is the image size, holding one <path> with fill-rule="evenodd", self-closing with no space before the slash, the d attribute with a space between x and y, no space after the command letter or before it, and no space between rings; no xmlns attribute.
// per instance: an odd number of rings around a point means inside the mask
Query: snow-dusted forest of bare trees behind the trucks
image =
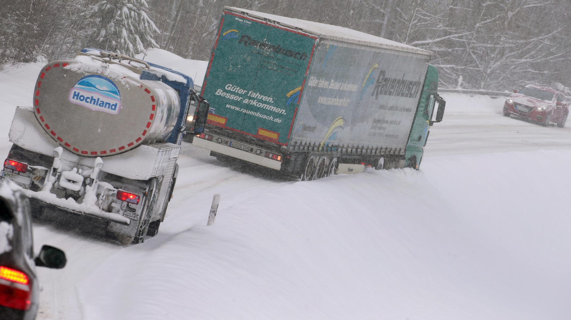
<svg viewBox="0 0 571 320"><path fill-rule="evenodd" d="M349 27L434 52L441 87L568 86L568 0L0 0L0 68L82 47L206 60L223 6Z"/></svg>

